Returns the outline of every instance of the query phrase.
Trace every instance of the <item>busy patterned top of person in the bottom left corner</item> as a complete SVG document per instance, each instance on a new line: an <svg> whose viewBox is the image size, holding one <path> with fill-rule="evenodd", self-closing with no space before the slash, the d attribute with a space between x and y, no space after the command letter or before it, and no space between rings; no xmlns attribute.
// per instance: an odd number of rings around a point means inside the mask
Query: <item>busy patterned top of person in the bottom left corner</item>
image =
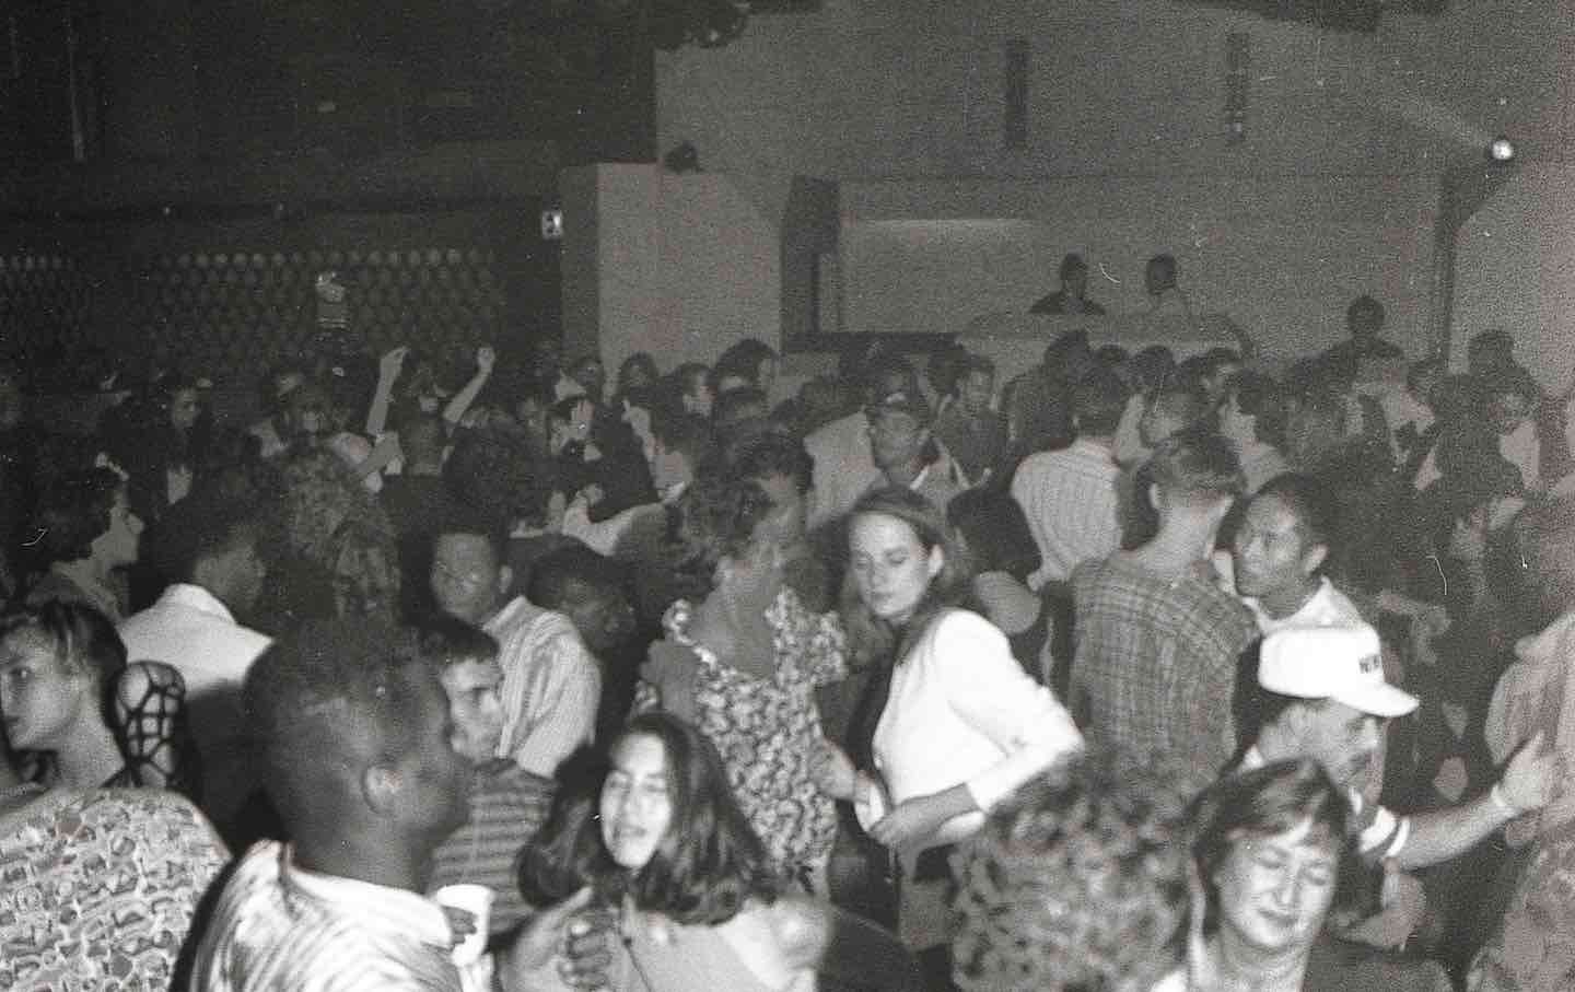
<svg viewBox="0 0 1575 992"><path fill-rule="evenodd" d="M228 860L170 792L58 790L0 819L0 989L162 992Z"/></svg>

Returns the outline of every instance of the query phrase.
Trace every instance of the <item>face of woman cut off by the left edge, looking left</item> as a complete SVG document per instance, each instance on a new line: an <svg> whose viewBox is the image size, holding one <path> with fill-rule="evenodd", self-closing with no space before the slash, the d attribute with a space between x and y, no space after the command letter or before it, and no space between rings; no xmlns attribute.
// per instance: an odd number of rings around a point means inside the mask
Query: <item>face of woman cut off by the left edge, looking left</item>
<svg viewBox="0 0 1575 992"><path fill-rule="evenodd" d="M0 644L0 716L14 750L58 750L93 699L93 680L41 633L24 628Z"/></svg>

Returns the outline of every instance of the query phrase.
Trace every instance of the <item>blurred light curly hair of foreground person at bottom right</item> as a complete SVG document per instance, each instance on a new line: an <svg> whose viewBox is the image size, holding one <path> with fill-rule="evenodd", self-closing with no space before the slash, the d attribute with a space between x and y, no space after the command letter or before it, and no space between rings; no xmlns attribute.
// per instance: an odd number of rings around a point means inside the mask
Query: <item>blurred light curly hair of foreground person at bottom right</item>
<svg viewBox="0 0 1575 992"><path fill-rule="evenodd" d="M953 855L958 986L1137 992L1177 968L1189 778L1085 753L1002 803Z"/></svg>

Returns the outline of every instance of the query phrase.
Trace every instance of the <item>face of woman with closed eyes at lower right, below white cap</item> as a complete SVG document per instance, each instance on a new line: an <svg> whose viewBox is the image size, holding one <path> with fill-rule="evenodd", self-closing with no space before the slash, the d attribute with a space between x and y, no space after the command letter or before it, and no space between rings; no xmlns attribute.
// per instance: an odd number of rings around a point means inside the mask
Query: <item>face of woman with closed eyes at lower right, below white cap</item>
<svg viewBox="0 0 1575 992"><path fill-rule="evenodd" d="M1258 951L1312 945L1334 901L1339 855L1312 820L1271 836L1241 835L1214 872L1221 927Z"/></svg>

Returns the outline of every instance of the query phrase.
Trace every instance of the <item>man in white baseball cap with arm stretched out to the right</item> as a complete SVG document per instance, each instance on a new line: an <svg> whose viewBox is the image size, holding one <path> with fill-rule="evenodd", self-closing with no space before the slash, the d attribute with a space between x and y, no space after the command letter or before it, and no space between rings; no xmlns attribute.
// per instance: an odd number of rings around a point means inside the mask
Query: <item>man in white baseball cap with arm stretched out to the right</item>
<svg viewBox="0 0 1575 992"><path fill-rule="evenodd" d="M1366 624L1290 627L1263 639L1258 655L1257 729L1241 768L1312 757L1345 786L1361 831L1358 847L1370 860L1403 869L1447 861L1509 820L1540 809L1558 792L1559 759L1531 738L1504 767L1499 781L1476 800L1414 816L1395 816L1367 803L1359 786L1383 743L1386 720L1405 716L1416 696L1389 685L1378 631Z"/></svg>

